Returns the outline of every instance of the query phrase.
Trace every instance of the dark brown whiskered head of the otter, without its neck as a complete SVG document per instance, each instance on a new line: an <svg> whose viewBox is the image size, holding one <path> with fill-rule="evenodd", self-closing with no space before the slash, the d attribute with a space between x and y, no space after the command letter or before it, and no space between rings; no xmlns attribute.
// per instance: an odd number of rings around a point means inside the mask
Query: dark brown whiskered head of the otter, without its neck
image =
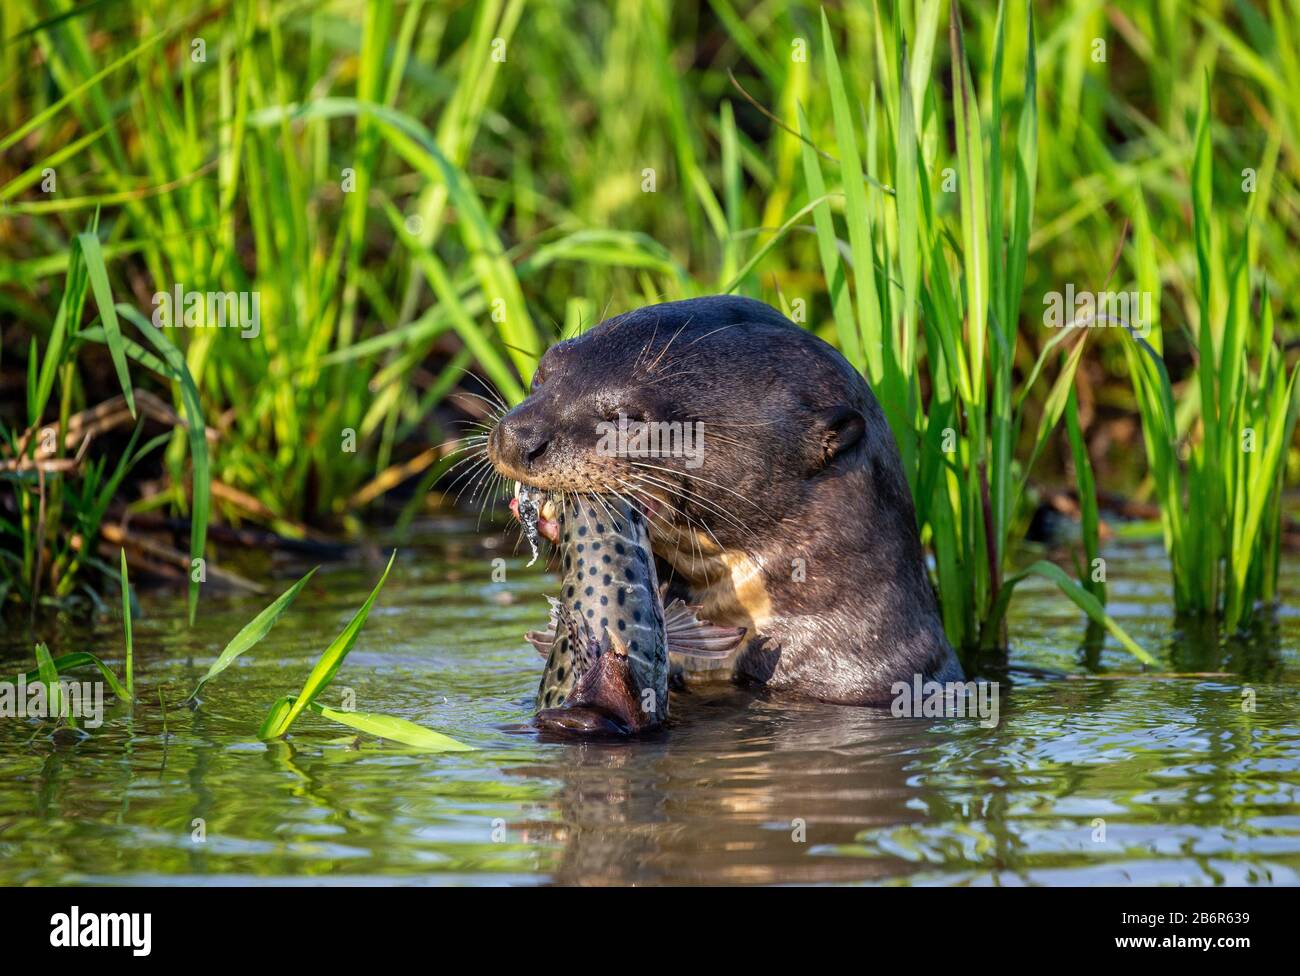
<svg viewBox="0 0 1300 976"><path fill-rule="evenodd" d="M656 554L707 558L751 552L818 480L861 464L879 409L831 346L759 302L718 296L551 347L488 451L533 487L632 498Z"/></svg>

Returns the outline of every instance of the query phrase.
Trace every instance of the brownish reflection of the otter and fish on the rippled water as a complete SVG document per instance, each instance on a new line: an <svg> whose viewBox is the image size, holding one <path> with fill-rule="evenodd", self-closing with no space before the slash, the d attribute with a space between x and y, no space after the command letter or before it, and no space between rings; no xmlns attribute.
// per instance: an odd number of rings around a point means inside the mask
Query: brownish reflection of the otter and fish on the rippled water
<svg viewBox="0 0 1300 976"><path fill-rule="evenodd" d="M766 702L719 689L679 695L646 743L572 743L512 769L562 782L555 880L807 882L885 873L810 856L883 823L914 823L907 751L924 723L888 712Z"/></svg>

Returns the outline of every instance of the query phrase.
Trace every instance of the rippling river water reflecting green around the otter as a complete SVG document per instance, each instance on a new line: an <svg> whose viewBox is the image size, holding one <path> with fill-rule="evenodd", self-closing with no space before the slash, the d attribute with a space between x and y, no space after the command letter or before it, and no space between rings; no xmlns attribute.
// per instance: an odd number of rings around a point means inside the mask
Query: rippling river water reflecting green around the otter
<svg viewBox="0 0 1300 976"><path fill-rule="evenodd" d="M573 743L528 729L542 663L521 634L554 577L494 542L407 543L325 695L477 751L411 754L312 715L257 741L380 563L324 567L198 711L178 702L269 597L205 595L190 630L182 597L146 593L134 717L108 704L79 742L0 720L0 884L1300 881L1300 563L1273 633L1219 646L1175 634L1158 551L1108 554L1112 611L1200 677L1123 677L1122 650L1082 650L1072 604L1026 584L1013 665L1108 677L1002 676L993 729L722 687L676 695L658 738ZM42 636L121 672L112 621ZM30 661L10 630L3 673Z"/></svg>

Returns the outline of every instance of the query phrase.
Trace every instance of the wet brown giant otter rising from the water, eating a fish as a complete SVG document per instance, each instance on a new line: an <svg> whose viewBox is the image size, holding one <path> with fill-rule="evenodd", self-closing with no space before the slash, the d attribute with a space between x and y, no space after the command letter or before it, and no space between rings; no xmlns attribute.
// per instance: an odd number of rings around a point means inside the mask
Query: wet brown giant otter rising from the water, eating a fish
<svg viewBox="0 0 1300 976"><path fill-rule="evenodd" d="M699 424L702 450L603 450L620 415ZM637 500L668 598L746 628L738 678L849 704L885 704L916 674L961 680L880 404L760 302L650 305L555 344L488 454L537 489Z"/></svg>

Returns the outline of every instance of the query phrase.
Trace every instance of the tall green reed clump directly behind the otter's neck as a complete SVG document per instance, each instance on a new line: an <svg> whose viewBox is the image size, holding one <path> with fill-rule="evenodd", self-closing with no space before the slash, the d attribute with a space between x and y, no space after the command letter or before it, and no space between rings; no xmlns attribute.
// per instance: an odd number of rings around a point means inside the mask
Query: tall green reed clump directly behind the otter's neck
<svg viewBox="0 0 1300 976"><path fill-rule="evenodd" d="M931 61L939 10L939 0L915 8L910 55L901 23L896 21L889 32L878 27L878 48L892 53L880 61L871 88L879 97L866 101L864 162L850 108L861 99L850 96L823 14L833 148L852 259L848 266L840 256L826 175L811 140L802 156L807 194L819 200L814 221L840 347L871 381L898 439L923 538L935 555L949 639L966 651L1004 646L1011 591L1027 574L1041 574L1134 655L1150 660L1105 615L1097 599L1104 594L1049 563L1006 576L1011 543L1023 526L1028 472L1070 404L1087 331L1062 331L1045 343L1028 377L1015 383L1037 173L1034 14L1026 5L1024 84L1008 147L1000 95L1005 4L998 5L993 35L993 95L983 109L961 17L952 4L948 116L930 73L911 70L914 64ZM942 159L937 138L946 121L957 148L952 160ZM806 122L803 127L807 135ZM956 221L944 212L944 196L953 191L958 199ZM1031 455L1018 465L1013 451L1026 424L1028 391L1058 347L1069 355L1048 390ZM923 378L928 402L922 395Z"/></svg>

